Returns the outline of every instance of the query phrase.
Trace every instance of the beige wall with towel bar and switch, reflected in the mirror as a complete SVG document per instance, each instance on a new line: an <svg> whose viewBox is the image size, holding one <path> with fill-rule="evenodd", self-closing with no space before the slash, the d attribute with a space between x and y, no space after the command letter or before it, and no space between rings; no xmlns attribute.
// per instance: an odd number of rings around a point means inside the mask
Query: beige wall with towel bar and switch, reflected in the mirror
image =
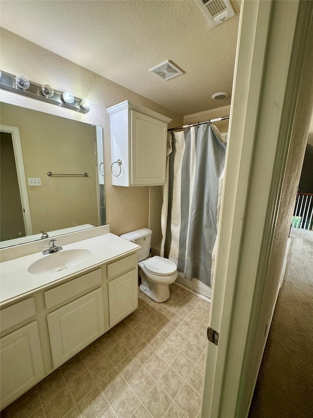
<svg viewBox="0 0 313 418"><path fill-rule="evenodd" d="M33 233L98 226L95 126L7 103L0 117L20 131ZM48 177L48 171L89 177ZM42 186L28 186L28 177L40 177Z"/></svg>

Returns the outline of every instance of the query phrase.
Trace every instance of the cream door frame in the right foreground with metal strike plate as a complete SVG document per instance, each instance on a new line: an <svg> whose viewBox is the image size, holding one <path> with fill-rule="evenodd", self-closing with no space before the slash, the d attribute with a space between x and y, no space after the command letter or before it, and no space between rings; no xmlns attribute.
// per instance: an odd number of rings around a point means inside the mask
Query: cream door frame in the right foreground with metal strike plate
<svg viewBox="0 0 313 418"><path fill-rule="evenodd" d="M203 418L248 414L258 369L252 383L245 373L259 326L293 122L298 102L306 99L299 91L303 80L310 88L313 83L312 69L303 71L313 57L307 44L313 37L310 3L242 4L209 324L220 338L218 346L208 344ZM308 114L309 124L310 109ZM261 358L262 353L257 366Z"/></svg>

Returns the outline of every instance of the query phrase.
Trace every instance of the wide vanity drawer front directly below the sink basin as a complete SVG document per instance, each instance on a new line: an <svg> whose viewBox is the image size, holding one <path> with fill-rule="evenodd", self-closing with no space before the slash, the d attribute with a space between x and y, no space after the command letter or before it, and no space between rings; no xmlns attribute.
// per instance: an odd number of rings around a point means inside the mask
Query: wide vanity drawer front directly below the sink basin
<svg viewBox="0 0 313 418"><path fill-rule="evenodd" d="M83 292L88 291L96 285L102 283L102 270L97 269L90 273L70 280L63 285L57 286L45 292L45 307L47 309L65 302L71 297L75 297Z"/></svg>

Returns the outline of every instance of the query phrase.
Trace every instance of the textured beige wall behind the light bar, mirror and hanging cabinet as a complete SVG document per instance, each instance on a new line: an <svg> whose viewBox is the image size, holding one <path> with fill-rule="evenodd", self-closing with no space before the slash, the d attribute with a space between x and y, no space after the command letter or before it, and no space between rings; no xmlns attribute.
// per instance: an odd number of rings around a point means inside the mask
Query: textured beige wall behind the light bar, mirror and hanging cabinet
<svg viewBox="0 0 313 418"><path fill-rule="evenodd" d="M37 83L47 83L59 91L70 90L81 98L89 98L92 108L87 115L59 108L48 103L1 91L1 100L46 113L63 116L104 129L104 162L107 223L117 235L149 224L149 187L118 187L111 183L110 117L106 109L129 99L145 106L173 122L182 124L182 117L112 81L94 74L67 59L41 48L20 36L1 28L1 70L24 74Z"/></svg>

